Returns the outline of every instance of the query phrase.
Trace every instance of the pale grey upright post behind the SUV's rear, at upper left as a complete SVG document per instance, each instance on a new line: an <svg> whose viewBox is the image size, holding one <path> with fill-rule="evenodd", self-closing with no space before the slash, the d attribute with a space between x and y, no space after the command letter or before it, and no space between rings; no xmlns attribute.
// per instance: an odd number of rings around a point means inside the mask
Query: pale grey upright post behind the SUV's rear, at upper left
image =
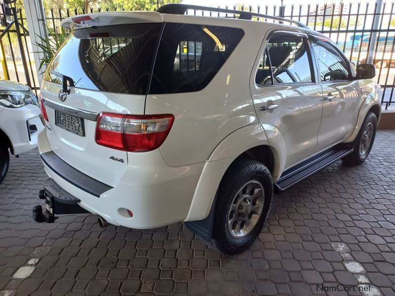
<svg viewBox="0 0 395 296"><path fill-rule="evenodd" d="M40 37L44 39L48 38L48 32L46 30L44 4L42 0L23 0L23 5L26 13L26 21L28 23L29 36L32 42L33 55L34 55L37 75L39 77L39 84L41 84L42 81L41 73L45 72L45 66L43 66L43 68L41 68L40 71L39 71L39 67L40 67L40 61L42 60L44 55L42 52L40 52L41 50L36 44L40 43L41 41Z"/></svg>

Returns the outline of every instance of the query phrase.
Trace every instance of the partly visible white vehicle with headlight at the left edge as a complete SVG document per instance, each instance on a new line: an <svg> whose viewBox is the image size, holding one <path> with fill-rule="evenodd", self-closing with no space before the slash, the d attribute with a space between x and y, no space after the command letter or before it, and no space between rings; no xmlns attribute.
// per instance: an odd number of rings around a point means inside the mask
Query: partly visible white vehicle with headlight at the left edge
<svg viewBox="0 0 395 296"><path fill-rule="evenodd" d="M37 97L24 84L0 80L0 183L9 166L9 152L17 157L37 148L43 129Z"/></svg>

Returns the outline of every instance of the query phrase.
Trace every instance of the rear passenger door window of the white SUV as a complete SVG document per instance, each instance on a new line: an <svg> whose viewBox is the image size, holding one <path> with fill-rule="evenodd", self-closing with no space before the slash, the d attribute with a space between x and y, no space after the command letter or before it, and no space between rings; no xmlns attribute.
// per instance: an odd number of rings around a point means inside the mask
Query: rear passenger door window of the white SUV
<svg viewBox="0 0 395 296"><path fill-rule="evenodd" d="M304 37L275 34L269 38L267 49L268 57L264 54L261 64L265 67L270 62L276 84L313 82L308 45ZM266 76L263 81L259 81L256 77L258 84L272 83L269 76L266 74L263 76Z"/></svg>

